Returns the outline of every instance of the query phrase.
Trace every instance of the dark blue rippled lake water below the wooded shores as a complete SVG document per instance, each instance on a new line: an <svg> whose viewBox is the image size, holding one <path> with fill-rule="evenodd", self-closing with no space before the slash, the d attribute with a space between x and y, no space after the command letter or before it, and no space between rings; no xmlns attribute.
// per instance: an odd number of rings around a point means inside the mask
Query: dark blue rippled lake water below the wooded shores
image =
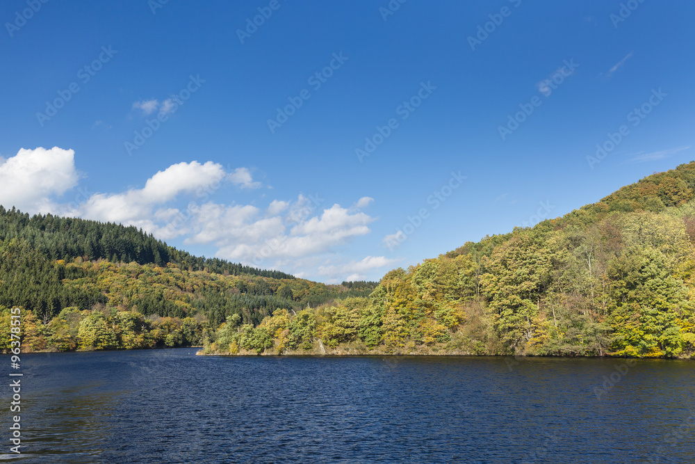
<svg viewBox="0 0 695 464"><path fill-rule="evenodd" d="M24 355L13 461L695 462L689 361L195 351Z"/></svg>

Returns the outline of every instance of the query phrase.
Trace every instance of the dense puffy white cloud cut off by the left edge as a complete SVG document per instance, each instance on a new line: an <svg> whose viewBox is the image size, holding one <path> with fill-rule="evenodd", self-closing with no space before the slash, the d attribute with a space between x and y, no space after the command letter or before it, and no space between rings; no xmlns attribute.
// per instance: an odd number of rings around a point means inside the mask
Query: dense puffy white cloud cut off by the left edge
<svg viewBox="0 0 695 464"><path fill-rule="evenodd" d="M73 150L53 147L46 150L22 148L14 157L0 164L0 204L22 211L48 213L56 211L49 198L63 195L77 185L79 175Z"/></svg>

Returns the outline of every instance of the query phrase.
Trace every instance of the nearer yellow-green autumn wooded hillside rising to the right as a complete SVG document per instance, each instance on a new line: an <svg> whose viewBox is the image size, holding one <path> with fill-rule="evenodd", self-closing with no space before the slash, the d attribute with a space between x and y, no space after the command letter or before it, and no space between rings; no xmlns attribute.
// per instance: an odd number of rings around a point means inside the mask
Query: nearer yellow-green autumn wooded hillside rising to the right
<svg viewBox="0 0 695 464"><path fill-rule="evenodd" d="M694 192L691 162L395 269L368 298L227 318L206 352L692 357Z"/></svg>

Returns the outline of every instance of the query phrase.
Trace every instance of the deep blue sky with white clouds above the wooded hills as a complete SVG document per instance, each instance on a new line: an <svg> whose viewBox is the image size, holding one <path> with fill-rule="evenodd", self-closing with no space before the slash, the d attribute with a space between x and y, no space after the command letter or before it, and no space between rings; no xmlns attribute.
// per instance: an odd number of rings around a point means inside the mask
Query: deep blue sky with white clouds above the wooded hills
<svg viewBox="0 0 695 464"><path fill-rule="evenodd" d="M695 159L692 1L400 1L3 1L0 204L333 283Z"/></svg>

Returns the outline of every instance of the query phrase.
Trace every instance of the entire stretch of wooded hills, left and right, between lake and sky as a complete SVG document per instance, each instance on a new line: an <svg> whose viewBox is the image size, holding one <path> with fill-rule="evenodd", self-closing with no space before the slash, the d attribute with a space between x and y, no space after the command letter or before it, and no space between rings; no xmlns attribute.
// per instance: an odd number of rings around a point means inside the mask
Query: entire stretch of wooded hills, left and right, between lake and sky
<svg viewBox="0 0 695 464"><path fill-rule="evenodd" d="M22 307L35 350L692 357L694 192L692 162L378 285L323 285L193 257L133 227L0 209L0 324Z"/></svg>

